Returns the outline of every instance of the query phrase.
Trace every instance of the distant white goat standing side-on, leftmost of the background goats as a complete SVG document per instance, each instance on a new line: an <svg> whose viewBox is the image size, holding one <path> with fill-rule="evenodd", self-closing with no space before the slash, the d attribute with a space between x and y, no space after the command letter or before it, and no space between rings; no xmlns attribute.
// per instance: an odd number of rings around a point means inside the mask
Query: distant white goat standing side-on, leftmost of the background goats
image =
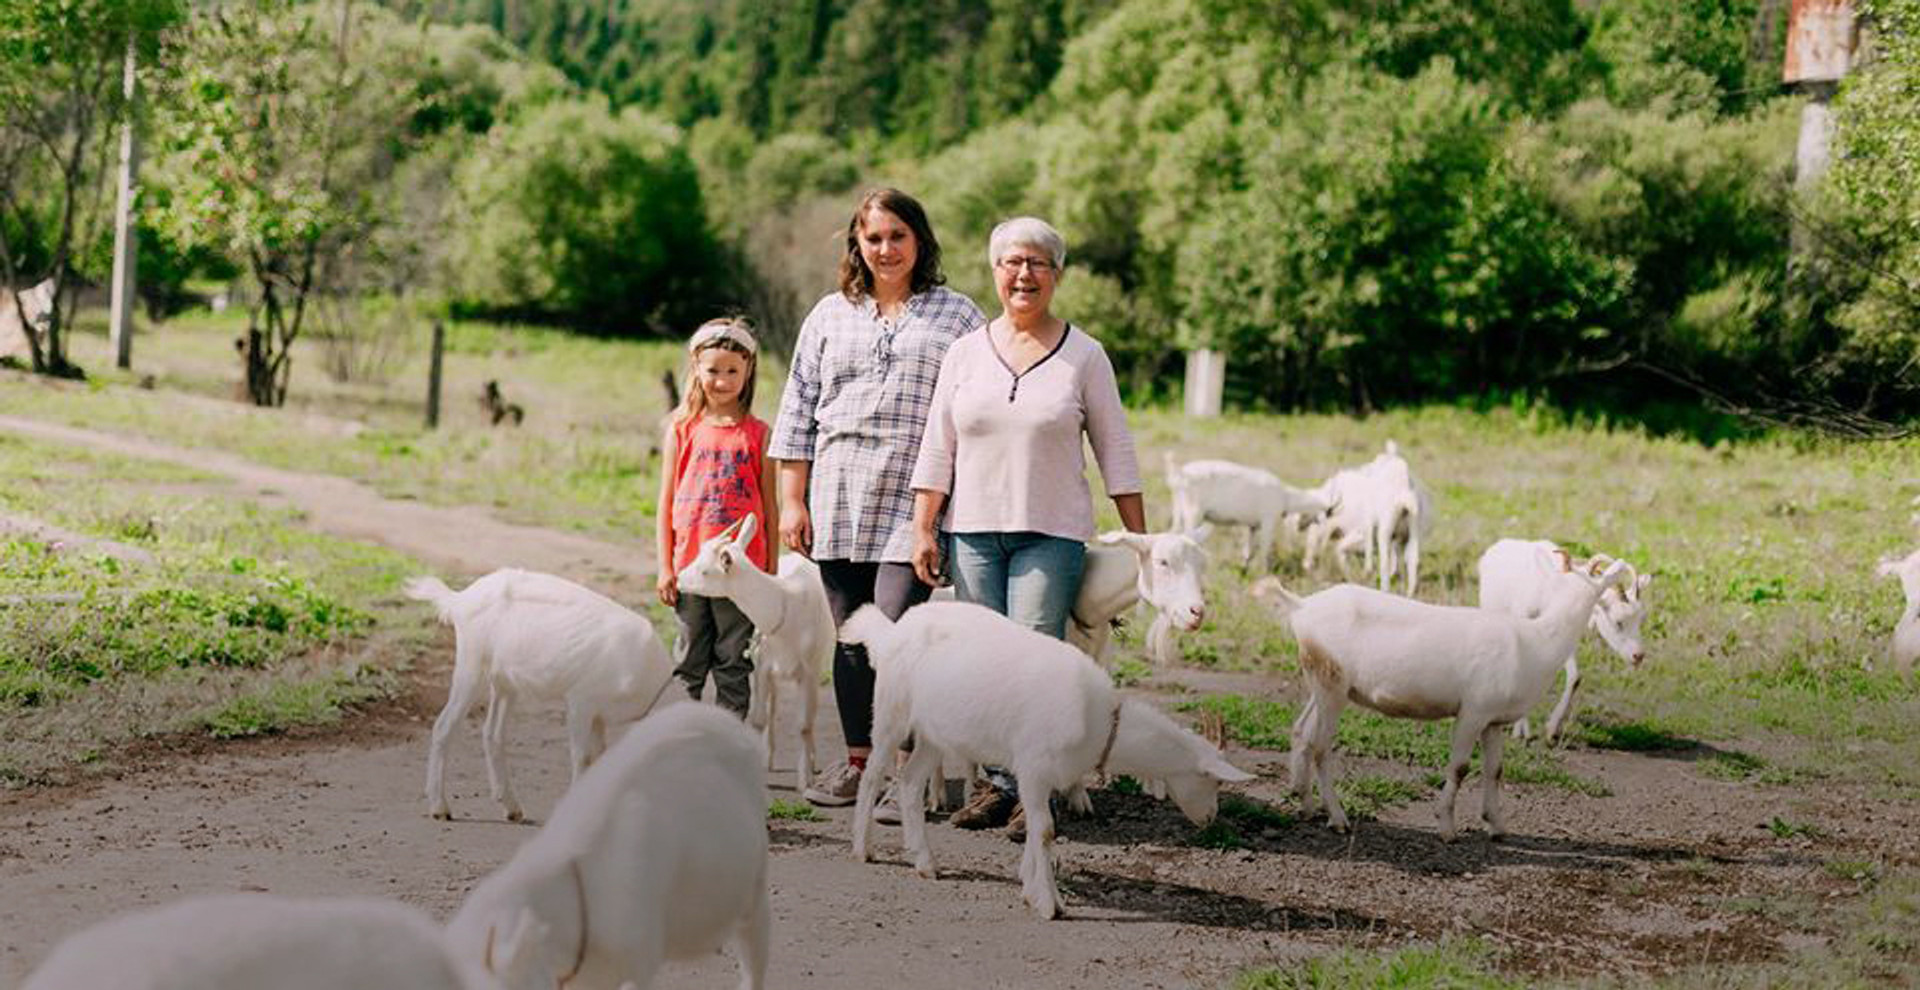
<svg viewBox="0 0 1920 990"><path fill-rule="evenodd" d="M1269 570L1273 535L1281 520L1319 518L1331 508L1325 495L1281 482L1273 472L1233 460L1188 460L1165 455L1167 491L1173 495L1173 531L1192 531L1202 524L1244 526L1240 564Z"/></svg>

